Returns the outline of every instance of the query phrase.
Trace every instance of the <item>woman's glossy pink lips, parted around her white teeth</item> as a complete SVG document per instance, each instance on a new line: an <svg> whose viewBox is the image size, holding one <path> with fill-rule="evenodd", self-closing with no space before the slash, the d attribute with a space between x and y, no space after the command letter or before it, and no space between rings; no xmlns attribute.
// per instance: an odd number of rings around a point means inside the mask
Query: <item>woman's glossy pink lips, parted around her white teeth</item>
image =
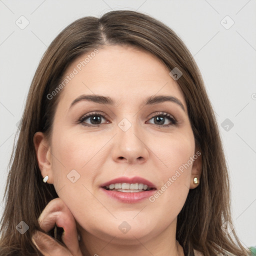
<svg viewBox="0 0 256 256"><path fill-rule="evenodd" d="M114 184L114 183L143 183L147 185L149 188L153 188L151 190L145 190L141 192L120 192L120 191L114 191L114 190L106 190L103 187L106 185ZM119 177L112 180L109 180L103 184L100 185L100 189L110 198L116 199L120 202L124 203L134 203L134 202L140 202L141 200L148 198L149 196L153 195L156 188L153 183L148 181L147 179L144 179L142 177Z"/></svg>

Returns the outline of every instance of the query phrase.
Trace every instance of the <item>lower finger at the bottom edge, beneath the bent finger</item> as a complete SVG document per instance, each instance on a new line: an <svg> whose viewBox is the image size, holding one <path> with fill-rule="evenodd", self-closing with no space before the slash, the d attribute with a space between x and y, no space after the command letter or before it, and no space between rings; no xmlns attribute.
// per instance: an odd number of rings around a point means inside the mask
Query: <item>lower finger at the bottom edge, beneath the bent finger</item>
<svg viewBox="0 0 256 256"><path fill-rule="evenodd" d="M71 256L72 254L49 235L36 231L32 241L44 256Z"/></svg>

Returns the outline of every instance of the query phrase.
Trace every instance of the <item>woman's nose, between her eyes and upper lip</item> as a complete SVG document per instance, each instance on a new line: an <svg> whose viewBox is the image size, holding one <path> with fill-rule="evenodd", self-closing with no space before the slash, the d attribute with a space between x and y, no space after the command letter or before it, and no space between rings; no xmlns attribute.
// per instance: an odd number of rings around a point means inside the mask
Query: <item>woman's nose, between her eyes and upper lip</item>
<svg viewBox="0 0 256 256"><path fill-rule="evenodd" d="M136 124L128 124L127 120L125 125L130 125L126 130L123 129L119 123L116 127L116 135L114 136L112 158L116 162L126 162L129 164L144 163L149 157L149 148L146 145L145 133L142 127Z"/></svg>

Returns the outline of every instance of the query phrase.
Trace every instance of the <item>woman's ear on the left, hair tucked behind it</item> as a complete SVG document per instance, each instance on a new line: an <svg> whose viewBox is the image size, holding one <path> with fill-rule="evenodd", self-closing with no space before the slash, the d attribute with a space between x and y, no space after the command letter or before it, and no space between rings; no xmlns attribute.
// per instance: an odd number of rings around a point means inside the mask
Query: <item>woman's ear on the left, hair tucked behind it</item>
<svg viewBox="0 0 256 256"><path fill-rule="evenodd" d="M42 178L49 176L47 183L53 184L52 157L49 142L41 131L34 134L33 142Z"/></svg>

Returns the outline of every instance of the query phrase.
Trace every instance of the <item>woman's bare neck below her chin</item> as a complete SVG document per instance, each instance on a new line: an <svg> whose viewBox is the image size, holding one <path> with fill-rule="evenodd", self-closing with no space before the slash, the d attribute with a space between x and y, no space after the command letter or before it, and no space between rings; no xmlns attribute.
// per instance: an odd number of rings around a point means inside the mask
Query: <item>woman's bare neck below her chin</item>
<svg viewBox="0 0 256 256"><path fill-rule="evenodd" d="M129 239L118 236L118 233L96 236L80 227L80 249L84 256L184 256L183 248L175 239L175 227L176 221L173 221L158 234L141 236L134 233Z"/></svg>

